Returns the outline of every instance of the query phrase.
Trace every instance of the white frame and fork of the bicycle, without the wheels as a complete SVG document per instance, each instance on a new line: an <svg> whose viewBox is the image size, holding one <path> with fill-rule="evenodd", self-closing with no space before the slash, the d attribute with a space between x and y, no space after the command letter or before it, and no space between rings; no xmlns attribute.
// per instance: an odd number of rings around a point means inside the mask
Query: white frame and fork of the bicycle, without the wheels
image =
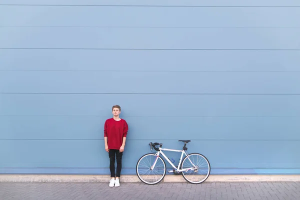
<svg viewBox="0 0 300 200"><path fill-rule="evenodd" d="M181 171L188 171L188 170L194 170L196 169L197 167L192 163L192 161L189 159L189 156L188 154L185 152L185 150L176 150L176 149L169 149L169 148L161 148L161 147L158 147L158 151L156 152L156 159L154 160L154 163L153 165L150 167L150 169L152 170L156 164L156 161L158 159L158 156L159 154L161 154L165 159L166 161L168 161L168 163L170 163L170 165L177 171L177 172L181 172ZM165 151L175 151L175 152L181 152L181 156L180 156L180 159L179 159L179 163L178 163L178 166L176 167L172 162L171 160L169 160L169 158L162 152L162 150L165 150ZM179 169L180 165L181 165L181 161L182 161L182 157L183 157L183 154L186 155L187 159L190 161L190 163L193 165L193 167L189 167L189 168L183 168L183 169ZM169 173L170 172L173 172L172 170L168 171Z"/></svg>

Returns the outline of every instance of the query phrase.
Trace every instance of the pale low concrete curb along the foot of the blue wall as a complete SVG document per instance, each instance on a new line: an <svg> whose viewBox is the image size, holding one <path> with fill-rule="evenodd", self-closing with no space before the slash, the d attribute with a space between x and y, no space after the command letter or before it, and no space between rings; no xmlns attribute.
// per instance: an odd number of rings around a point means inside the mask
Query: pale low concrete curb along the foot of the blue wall
<svg viewBox="0 0 300 200"><path fill-rule="evenodd" d="M109 175L0 174L0 182L108 182ZM141 182L136 175L121 175L122 182ZM205 182L300 181L300 175L209 175ZM165 175L161 182L187 182L182 175Z"/></svg>

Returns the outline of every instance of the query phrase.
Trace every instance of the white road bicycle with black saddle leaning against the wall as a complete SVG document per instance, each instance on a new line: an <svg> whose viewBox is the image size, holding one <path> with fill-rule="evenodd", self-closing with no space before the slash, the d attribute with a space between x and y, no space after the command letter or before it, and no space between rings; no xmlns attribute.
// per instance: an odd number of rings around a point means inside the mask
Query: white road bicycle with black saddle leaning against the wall
<svg viewBox="0 0 300 200"><path fill-rule="evenodd" d="M208 159L200 153L188 154L186 152L186 144L190 142L190 140L178 141L184 142L182 150L162 148L162 143L149 143L151 151L153 147L156 150L156 153L144 154L136 163L136 174L142 182L146 184L156 184L164 178L166 173L166 165L160 154L173 167L173 170L168 170L169 173L173 172L176 175L182 174L186 181L194 184L204 182L208 178L210 174L210 163ZM158 145L159 147L156 147ZM176 167L162 151L181 152L178 166ZM182 159L183 154L185 154L185 157ZM193 179L197 177L199 177L199 180Z"/></svg>

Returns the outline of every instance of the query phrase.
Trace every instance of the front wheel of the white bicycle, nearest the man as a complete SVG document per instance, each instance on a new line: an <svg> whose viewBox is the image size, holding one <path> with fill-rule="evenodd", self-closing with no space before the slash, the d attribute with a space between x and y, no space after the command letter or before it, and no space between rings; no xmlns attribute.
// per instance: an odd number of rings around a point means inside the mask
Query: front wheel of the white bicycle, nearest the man
<svg viewBox="0 0 300 200"><path fill-rule="evenodd" d="M151 166L155 163L153 169ZM148 153L139 158L136 163L136 174L146 184L156 184L162 180L166 173L165 162L160 156Z"/></svg>

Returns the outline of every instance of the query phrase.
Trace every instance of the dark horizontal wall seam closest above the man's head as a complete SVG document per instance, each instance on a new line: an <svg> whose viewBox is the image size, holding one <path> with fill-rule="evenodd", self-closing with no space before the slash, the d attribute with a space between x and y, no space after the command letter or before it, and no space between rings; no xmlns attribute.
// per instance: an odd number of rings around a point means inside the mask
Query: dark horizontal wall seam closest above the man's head
<svg viewBox="0 0 300 200"><path fill-rule="evenodd" d="M109 93L109 92L0 92L0 94L142 94L142 95L300 95L300 93Z"/></svg>

